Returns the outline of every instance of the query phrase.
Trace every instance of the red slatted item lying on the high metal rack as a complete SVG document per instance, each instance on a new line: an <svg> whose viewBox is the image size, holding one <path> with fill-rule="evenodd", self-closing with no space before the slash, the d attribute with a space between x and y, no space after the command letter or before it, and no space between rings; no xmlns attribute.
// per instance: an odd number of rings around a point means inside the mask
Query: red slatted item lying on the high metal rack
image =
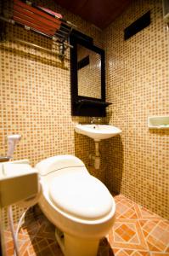
<svg viewBox="0 0 169 256"><path fill-rule="evenodd" d="M14 0L14 20L22 25L30 26L39 32L43 32L48 36L54 36L55 32L60 28L61 21L51 15L55 15L58 18L62 18L62 15L54 13L49 9L38 8L42 10L36 9L20 0Z"/></svg>

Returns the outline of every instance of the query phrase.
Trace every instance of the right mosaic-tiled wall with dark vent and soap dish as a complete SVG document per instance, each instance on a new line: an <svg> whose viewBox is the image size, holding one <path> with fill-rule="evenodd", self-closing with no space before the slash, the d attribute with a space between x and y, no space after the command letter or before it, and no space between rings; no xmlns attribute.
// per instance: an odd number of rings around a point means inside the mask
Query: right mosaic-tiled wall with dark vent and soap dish
<svg viewBox="0 0 169 256"><path fill-rule="evenodd" d="M124 41L124 29L148 10L151 24ZM169 114L169 32L162 1L132 1L104 31L107 102L121 137L107 141L106 184L169 218L169 131L149 131L147 119Z"/></svg>

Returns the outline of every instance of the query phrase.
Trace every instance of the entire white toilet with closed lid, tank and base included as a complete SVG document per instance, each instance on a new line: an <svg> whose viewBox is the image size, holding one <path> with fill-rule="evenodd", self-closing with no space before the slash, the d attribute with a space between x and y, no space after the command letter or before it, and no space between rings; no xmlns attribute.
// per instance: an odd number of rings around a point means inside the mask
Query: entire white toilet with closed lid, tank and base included
<svg viewBox="0 0 169 256"><path fill-rule="evenodd" d="M100 238L115 220L109 190L73 155L50 157L36 168L42 183L39 205L56 226L65 256L96 256Z"/></svg>

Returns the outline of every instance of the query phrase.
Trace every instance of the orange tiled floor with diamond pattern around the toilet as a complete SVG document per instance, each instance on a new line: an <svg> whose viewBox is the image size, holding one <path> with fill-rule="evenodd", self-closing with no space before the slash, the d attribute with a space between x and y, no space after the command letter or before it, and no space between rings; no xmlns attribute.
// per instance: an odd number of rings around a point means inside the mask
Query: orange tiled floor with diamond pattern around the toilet
<svg viewBox="0 0 169 256"><path fill-rule="evenodd" d="M169 221L124 195L115 196L116 220L109 235L100 241L98 256L169 256ZM9 230L6 251L14 255ZM55 241L54 225L38 210L26 213L19 233L20 256L63 256ZM81 256L81 255L79 255Z"/></svg>

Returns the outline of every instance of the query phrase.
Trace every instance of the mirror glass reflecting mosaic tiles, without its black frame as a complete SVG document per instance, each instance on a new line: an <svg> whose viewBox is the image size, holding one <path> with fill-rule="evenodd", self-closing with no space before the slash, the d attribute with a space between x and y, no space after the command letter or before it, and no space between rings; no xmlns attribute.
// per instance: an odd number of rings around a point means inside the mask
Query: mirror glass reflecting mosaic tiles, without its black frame
<svg viewBox="0 0 169 256"><path fill-rule="evenodd" d="M101 57L91 49L77 44L78 96L101 99Z"/></svg>

